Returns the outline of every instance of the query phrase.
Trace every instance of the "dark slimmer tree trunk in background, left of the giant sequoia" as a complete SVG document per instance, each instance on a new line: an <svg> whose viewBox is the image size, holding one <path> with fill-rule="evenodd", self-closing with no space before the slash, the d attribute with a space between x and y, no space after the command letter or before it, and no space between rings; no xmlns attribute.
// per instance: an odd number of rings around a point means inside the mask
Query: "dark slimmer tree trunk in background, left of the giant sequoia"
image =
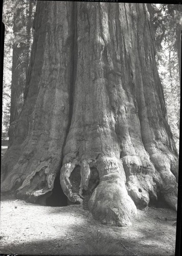
<svg viewBox="0 0 182 256"><path fill-rule="evenodd" d="M17 6L16 6L17 5ZM9 146L13 143L16 119L21 112L24 103L24 92L27 80L27 68L30 62L32 46L32 12L35 7L33 1L20 1L16 4L13 19L13 60L12 60L12 83L11 83L11 109L10 127L8 131Z"/></svg>

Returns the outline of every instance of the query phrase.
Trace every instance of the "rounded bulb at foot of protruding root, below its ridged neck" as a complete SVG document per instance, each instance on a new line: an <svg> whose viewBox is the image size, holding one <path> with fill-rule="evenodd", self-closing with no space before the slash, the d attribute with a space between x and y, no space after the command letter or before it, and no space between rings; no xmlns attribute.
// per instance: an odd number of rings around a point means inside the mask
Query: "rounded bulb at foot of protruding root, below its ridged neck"
<svg viewBox="0 0 182 256"><path fill-rule="evenodd" d="M131 225L132 218L137 215L137 207L118 174L102 178L89 200L88 208L94 219L111 226Z"/></svg>

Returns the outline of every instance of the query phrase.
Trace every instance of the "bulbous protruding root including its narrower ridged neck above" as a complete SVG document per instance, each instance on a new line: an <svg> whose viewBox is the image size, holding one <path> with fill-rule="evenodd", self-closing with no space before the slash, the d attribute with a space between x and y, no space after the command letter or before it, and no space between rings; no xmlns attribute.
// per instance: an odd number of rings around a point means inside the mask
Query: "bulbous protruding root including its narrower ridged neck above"
<svg viewBox="0 0 182 256"><path fill-rule="evenodd" d="M125 226L137 214L137 208L125 187L125 174L120 160L100 157L97 162L100 183L90 197L88 207L93 217L103 224Z"/></svg>

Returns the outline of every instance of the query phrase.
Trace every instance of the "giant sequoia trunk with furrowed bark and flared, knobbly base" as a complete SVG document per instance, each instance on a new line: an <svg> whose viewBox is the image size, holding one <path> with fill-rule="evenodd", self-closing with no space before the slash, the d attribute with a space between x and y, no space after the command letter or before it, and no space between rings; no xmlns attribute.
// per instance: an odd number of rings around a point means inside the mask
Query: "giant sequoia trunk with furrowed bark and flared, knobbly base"
<svg viewBox="0 0 182 256"><path fill-rule="evenodd" d="M177 152L154 54L145 4L38 2L2 191L47 202L60 176L69 202L119 226L137 208L175 209Z"/></svg>

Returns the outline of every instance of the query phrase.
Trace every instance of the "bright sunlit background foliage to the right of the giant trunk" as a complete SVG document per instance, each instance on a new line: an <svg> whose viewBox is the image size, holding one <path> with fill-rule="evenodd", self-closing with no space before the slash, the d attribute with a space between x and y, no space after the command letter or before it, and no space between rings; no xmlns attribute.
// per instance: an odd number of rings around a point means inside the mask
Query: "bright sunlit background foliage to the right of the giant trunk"
<svg viewBox="0 0 182 256"><path fill-rule="evenodd" d="M182 7L152 4L151 9L155 30L156 62L164 89L167 119L178 150Z"/></svg>

